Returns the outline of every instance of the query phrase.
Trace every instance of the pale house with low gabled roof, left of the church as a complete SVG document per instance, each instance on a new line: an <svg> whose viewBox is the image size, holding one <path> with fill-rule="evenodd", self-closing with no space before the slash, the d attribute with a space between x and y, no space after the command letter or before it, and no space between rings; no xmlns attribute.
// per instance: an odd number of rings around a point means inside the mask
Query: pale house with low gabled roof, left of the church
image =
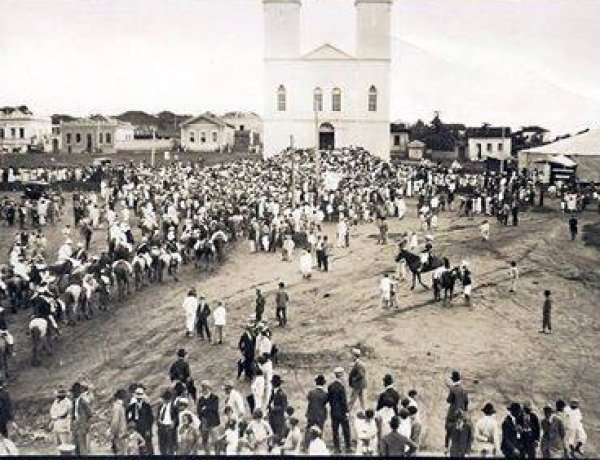
<svg viewBox="0 0 600 460"><path fill-rule="evenodd" d="M209 112L181 124L181 147L192 152L229 152L235 126Z"/></svg>

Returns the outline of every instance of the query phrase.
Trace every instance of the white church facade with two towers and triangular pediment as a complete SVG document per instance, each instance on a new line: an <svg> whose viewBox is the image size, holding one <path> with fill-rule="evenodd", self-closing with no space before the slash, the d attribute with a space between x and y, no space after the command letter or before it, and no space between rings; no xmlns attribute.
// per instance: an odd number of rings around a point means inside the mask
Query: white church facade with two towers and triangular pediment
<svg viewBox="0 0 600 460"><path fill-rule="evenodd" d="M300 53L301 0L263 0L264 153L290 145L363 147L390 156L390 21L393 0L355 0L357 49Z"/></svg>

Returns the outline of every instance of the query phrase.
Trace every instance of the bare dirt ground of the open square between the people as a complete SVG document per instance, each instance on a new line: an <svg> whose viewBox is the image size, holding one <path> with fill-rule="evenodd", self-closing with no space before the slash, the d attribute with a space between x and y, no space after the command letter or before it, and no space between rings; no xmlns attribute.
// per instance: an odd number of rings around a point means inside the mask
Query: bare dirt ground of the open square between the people
<svg viewBox="0 0 600 460"><path fill-rule="evenodd" d="M405 220L390 220L392 236L417 228L414 202L408 204ZM160 390L168 384L167 370L179 347L189 350L196 381L208 378L220 386L234 378L237 341L253 311L254 289L261 287L267 292L267 314L275 323L273 293L277 282L283 280L290 290L290 325L285 330L274 328L274 340L281 350L276 372L282 375L288 397L301 417L314 376L323 372L330 380L335 366L349 369L350 349L359 346L365 355L372 404L386 373L395 376L403 393L412 388L419 392L426 430L424 450L442 450L444 378L458 369L470 392L473 419L480 416L487 401L493 402L503 417L502 408L512 400L530 400L539 413L559 397L578 397L589 436L587 453L598 454L599 219L597 214L584 214L580 228L585 241L571 242L567 217L556 212L557 203L550 206L552 209L523 216L516 228L500 228L494 222L489 242L479 238L481 218L442 214L434 248L453 265L469 262L474 285L471 308L460 295L452 306L443 307L431 301L431 291L420 287L410 291L405 282L398 292L400 309L383 310L379 279L395 269L396 245L378 246L377 229L371 224L353 228L351 247L334 249L330 273L315 272L310 281L302 280L297 260L286 263L279 255L248 254L245 244L232 250L227 263L210 275L185 267L179 283L147 287L126 302L115 303L109 312L96 312L93 320L65 329L54 356L44 359L42 367L29 366L26 314L11 316L18 354L11 363L9 390L22 431L15 441L25 452L53 452L47 426L54 391L59 385L85 379L93 385L95 397L94 449L106 452L109 399L114 391L143 382L157 402ZM59 230L57 226L47 231L54 248ZM327 232L334 238L335 227L328 226ZM103 238L104 232L96 232L94 244ZM8 250L11 239L12 233L2 228L3 251ZM518 261L521 270L515 294L508 292L511 260ZM424 280L430 284L429 276ZM206 293L209 300L226 301L226 345L186 339L181 302L191 286ZM552 289L554 296L552 335L538 333L544 289ZM329 425L325 437L331 439Z"/></svg>

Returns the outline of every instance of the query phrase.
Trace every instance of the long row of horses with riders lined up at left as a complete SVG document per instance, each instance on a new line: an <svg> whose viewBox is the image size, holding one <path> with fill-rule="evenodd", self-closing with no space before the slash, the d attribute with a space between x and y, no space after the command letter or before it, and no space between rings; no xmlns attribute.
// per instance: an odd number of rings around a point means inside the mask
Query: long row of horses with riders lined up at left
<svg viewBox="0 0 600 460"><path fill-rule="evenodd" d="M13 313L33 307L33 315L46 319L46 334L29 327L31 363L37 366L42 351L52 354L52 340L61 336L59 324L74 326L93 317L95 297L99 309L107 310L112 297L124 301L134 290L163 283L165 270L174 281L179 280L180 266L190 261L197 269L211 270L215 261L222 261L226 241L226 235L220 231L211 238L188 237L163 244L150 241L145 251L117 242L110 253L90 261L68 258L48 265L31 263L27 273L15 273L6 266L0 271L0 303L9 306ZM0 371L5 375L9 356L6 348L5 337L0 333Z"/></svg>

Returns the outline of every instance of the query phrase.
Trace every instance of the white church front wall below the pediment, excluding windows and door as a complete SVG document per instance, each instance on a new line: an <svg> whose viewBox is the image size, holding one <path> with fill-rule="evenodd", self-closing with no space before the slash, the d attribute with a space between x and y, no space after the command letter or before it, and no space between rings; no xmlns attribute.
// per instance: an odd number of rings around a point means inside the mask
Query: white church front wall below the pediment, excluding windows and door
<svg viewBox="0 0 600 460"><path fill-rule="evenodd" d="M287 90L285 112L277 110L277 89L282 84ZM368 111L371 85L377 88L376 112ZM313 92L317 86L323 91L319 124L335 127L336 146L361 146L389 158L389 61L356 59L265 61L265 156L285 149L290 134L297 147L314 147ZM340 112L331 110L334 87L342 92Z"/></svg>

